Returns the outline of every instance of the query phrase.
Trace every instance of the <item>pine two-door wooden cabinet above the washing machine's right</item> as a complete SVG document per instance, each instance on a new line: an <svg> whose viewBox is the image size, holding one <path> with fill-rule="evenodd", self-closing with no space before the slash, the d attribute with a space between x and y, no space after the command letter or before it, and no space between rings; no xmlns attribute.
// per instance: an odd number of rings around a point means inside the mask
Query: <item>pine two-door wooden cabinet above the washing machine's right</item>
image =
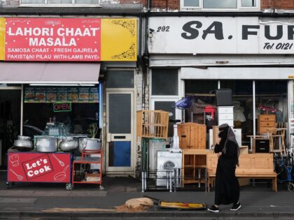
<svg viewBox="0 0 294 220"><path fill-rule="evenodd" d="M205 149L207 126L197 123L178 124L181 149Z"/></svg>

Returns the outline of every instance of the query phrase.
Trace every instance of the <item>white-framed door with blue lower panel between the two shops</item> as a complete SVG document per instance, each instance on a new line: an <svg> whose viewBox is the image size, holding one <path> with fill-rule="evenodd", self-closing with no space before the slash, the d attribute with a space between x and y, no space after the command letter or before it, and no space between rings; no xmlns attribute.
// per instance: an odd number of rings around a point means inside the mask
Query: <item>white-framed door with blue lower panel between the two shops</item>
<svg viewBox="0 0 294 220"><path fill-rule="evenodd" d="M106 100L106 172L134 171L134 91L107 91Z"/></svg>

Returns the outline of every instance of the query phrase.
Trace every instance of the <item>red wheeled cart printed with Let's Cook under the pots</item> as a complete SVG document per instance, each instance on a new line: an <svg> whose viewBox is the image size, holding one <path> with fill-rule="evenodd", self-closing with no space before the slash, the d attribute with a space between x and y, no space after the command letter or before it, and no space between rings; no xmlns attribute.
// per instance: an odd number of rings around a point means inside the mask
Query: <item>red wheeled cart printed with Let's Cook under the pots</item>
<svg viewBox="0 0 294 220"><path fill-rule="evenodd" d="M71 153L68 152L19 152L10 149L8 155L7 182L65 183L71 189Z"/></svg>

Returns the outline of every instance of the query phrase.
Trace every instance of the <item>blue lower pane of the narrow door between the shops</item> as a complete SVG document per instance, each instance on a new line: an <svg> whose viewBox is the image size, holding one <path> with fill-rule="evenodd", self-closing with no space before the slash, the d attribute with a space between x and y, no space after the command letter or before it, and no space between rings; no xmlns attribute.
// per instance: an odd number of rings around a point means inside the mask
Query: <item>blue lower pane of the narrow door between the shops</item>
<svg viewBox="0 0 294 220"><path fill-rule="evenodd" d="M131 142L109 142L109 166L131 166Z"/></svg>

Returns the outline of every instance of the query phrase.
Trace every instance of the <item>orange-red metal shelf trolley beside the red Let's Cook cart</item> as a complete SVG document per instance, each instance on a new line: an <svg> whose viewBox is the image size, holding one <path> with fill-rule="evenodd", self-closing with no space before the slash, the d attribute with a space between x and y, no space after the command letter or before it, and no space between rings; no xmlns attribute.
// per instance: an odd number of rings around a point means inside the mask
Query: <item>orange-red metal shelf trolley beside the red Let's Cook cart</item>
<svg viewBox="0 0 294 220"><path fill-rule="evenodd" d="M80 159L73 160L73 170L72 170L72 187L74 184L99 184L99 189L104 190L102 186L102 150L83 150ZM100 164L99 173L87 173L86 165ZM80 172L76 166L80 165ZM80 178L77 180L77 178ZM89 180L87 180L89 179ZM94 179L94 180L91 180Z"/></svg>

